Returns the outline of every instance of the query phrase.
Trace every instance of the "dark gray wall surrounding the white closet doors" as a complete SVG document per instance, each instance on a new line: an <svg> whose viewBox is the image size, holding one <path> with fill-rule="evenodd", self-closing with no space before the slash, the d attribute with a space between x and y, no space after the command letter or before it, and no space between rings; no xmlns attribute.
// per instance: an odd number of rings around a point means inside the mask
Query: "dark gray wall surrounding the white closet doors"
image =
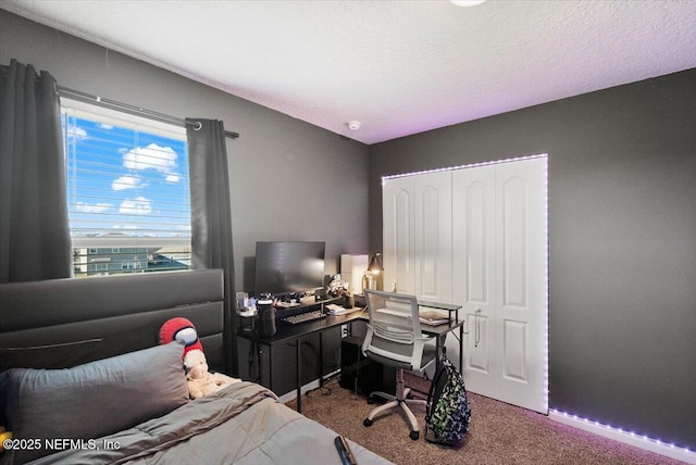
<svg viewBox="0 0 696 465"><path fill-rule="evenodd" d="M548 153L550 407L696 448L696 70L370 148L383 175Z"/></svg>

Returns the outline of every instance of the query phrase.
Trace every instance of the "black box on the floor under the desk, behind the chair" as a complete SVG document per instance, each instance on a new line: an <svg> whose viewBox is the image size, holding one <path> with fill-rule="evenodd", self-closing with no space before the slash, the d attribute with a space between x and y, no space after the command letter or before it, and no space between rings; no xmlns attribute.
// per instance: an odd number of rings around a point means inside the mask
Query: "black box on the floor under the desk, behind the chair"
<svg viewBox="0 0 696 465"><path fill-rule="evenodd" d="M390 376L390 381L387 377ZM361 395L373 391L393 393L396 372L374 362L362 354L362 338L350 337L340 340L340 380L338 385ZM385 382L386 381L386 382Z"/></svg>

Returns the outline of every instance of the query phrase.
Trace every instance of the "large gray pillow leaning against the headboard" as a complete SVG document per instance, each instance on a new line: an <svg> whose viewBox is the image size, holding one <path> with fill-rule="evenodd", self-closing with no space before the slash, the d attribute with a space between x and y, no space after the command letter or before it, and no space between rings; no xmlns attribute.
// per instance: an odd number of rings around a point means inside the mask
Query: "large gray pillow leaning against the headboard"
<svg viewBox="0 0 696 465"><path fill-rule="evenodd" d="M183 352L183 345L171 342L74 368L0 374L8 429L14 439L39 439L41 445L5 454L24 463L58 452L45 449L45 439L99 438L185 404Z"/></svg>

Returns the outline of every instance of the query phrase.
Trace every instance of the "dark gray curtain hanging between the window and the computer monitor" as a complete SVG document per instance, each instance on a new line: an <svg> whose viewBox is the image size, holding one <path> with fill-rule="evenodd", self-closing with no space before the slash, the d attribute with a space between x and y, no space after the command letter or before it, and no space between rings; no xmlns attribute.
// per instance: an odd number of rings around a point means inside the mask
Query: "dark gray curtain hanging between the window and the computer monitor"
<svg viewBox="0 0 696 465"><path fill-rule="evenodd" d="M225 129L221 121L187 118L191 192L191 266L225 272L225 369L238 376L235 273ZM200 125L198 125L200 123Z"/></svg>

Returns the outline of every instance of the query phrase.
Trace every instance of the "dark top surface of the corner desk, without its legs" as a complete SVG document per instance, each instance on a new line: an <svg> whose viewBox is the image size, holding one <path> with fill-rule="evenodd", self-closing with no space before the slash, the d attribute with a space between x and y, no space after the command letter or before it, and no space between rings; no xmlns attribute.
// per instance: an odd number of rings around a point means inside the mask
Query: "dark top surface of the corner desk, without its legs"
<svg viewBox="0 0 696 465"><path fill-rule="evenodd" d="M283 322L276 322L276 332L273 336L263 336L260 335L258 341L266 344L273 345L281 342L287 342L300 338L302 336L310 335L312 332L322 331L324 329L333 328L335 326L345 325L355 321L363 321L368 322L370 319L366 310L357 310L351 313L347 313L344 315L327 315L323 318L299 323L297 325L288 325ZM464 324L463 321L450 321L449 323L443 323L442 325L431 326L426 324L421 324L421 330L426 335L432 336L442 336L446 332L452 331ZM251 339L252 335L250 331L239 330L237 332L238 336L245 339Z"/></svg>

